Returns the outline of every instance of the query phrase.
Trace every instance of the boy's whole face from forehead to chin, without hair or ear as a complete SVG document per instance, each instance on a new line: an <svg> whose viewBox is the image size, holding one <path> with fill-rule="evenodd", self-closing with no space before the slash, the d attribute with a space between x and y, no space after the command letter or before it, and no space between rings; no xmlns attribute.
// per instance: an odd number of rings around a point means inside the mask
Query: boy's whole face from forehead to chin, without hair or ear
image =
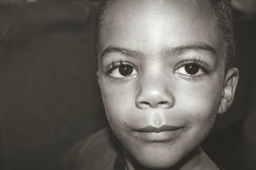
<svg viewBox="0 0 256 170"><path fill-rule="evenodd" d="M99 84L109 124L140 164L166 168L214 123L223 42L202 1L116 1L104 18Z"/></svg>

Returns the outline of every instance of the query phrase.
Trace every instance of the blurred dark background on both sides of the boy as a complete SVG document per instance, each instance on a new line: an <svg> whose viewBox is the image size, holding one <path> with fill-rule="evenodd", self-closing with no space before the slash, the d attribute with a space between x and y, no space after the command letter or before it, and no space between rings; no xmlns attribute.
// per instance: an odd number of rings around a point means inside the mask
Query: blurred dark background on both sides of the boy
<svg viewBox="0 0 256 170"><path fill-rule="evenodd" d="M239 87L202 146L226 169L256 169L256 3L232 4ZM0 0L0 169L58 169L79 139L108 126L95 77L97 5Z"/></svg>

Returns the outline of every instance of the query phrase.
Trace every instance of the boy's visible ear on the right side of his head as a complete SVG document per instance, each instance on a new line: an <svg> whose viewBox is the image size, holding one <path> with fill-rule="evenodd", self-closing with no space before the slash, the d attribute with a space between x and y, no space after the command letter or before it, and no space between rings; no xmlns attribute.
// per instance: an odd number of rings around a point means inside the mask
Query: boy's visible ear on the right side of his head
<svg viewBox="0 0 256 170"><path fill-rule="evenodd" d="M236 68L231 68L228 70L224 86L221 92L220 105L218 108L218 113L225 113L231 106L234 100L236 87L239 79L239 71Z"/></svg>

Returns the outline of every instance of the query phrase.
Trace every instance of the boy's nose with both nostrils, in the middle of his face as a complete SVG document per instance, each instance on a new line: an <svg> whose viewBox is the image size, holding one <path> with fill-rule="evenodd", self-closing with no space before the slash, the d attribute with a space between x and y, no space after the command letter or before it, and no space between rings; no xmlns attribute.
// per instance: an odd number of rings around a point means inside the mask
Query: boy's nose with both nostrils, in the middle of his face
<svg viewBox="0 0 256 170"><path fill-rule="evenodd" d="M163 78L150 78L148 81L141 81L138 87L138 94L136 96L137 108L168 109L173 107L175 99L167 80Z"/></svg>

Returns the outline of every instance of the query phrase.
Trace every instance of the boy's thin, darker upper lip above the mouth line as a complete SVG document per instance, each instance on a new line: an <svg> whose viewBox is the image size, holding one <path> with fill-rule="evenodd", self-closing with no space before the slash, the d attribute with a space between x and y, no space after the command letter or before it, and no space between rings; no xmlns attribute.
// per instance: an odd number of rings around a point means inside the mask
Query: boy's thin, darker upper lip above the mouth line
<svg viewBox="0 0 256 170"><path fill-rule="evenodd" d="M141 129L136 129L138 132L164 132L164 131L175 131L177 129L180 129L182 127L178 126L172 126L172 125L163 125L161 127L154 127L154 126L147 126L143 127Z"/></svg>

